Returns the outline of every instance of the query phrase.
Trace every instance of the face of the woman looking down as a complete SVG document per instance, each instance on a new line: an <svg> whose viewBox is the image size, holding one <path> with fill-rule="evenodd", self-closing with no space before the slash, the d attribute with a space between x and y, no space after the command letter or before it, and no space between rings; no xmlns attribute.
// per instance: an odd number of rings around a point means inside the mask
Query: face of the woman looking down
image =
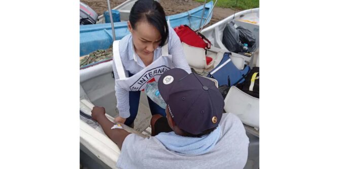
<svg viewBox="0 0 339 169"><path fill-rule="evenodd" d="M127 25L132 34L135 52L149 55L159 47L161 35L153 25L146 21L137 22L135 29L131 27L129 21Z"/></svg>

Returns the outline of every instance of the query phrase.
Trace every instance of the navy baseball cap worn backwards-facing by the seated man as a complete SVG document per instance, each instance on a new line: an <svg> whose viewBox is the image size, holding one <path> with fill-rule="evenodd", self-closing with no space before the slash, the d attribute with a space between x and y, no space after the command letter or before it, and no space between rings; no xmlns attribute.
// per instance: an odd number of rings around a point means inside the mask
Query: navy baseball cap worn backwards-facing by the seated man
<svg viewBox="0 0 339 169"><path fill-rule="evenodd" d="M198 135L218 126L224 99L210 79L174 68L160 76L158 89L180 129Z"/></svg>

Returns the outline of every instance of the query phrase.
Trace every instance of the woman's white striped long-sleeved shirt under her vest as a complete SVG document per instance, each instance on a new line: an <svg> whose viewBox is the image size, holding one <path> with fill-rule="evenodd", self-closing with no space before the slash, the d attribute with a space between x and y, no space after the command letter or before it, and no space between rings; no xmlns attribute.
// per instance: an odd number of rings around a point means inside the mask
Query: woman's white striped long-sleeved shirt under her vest
<svg viewBox="0 0 339 169"><path fill-rule="evenodd" d="M173 30L172 27L168 28L169 28L168 54L172 55L174 67L184 69L186 72L191 73L191 69L186 61L181 41L177 33ZM126 77L129 77L128 71L132 74L136 74L146 67L144 62L140 59L140 57L136 53L135 59L137 61L134 61L134 48L131 34L126 35L120 40L119 53ZM160 56L161 56L161 47L158 47L157 49L154 50L153 61L155 61ZM114 59L113 59L113 72L115 79L119 79ZM122 118L127 118L130 115L128 92L129 91L121 88L117 83L115 83L115 96L117 97L117 108L119 110L119 115Z"/></svg>

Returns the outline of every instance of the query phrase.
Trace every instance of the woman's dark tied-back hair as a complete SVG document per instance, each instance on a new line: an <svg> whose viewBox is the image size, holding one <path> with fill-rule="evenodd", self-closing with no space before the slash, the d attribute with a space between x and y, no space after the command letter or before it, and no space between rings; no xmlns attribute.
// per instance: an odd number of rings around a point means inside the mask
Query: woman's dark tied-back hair
<svg viewBox="0 0 339 169"><path fill-rule="evenodd" d="M142 20L147 20L153 25L161 35L160 47L164 46L168 37L168 25L165 12L161 5L153 0L139 0L135 2L129 14L129 22L133 29L135 24Z"/></svg>

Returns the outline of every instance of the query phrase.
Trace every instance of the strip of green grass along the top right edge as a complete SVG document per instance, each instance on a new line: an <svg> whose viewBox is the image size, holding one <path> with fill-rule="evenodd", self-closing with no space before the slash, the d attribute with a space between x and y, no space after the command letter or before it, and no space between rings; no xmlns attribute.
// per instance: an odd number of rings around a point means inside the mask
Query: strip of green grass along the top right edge
<svg viewBox="0 0 339 169"><path fill-rule="evenodd" d="M199 3L204 3L205 0L195 0ZM207 0L206 3L210 2ZM213 0L215 3L215 0ZM218 0L216 7L221 8L231 8L235 9L236 0ZM252 8L259 8L259 0L238 0L238 4L236 5L237 10L247 10Z"/></svg>

